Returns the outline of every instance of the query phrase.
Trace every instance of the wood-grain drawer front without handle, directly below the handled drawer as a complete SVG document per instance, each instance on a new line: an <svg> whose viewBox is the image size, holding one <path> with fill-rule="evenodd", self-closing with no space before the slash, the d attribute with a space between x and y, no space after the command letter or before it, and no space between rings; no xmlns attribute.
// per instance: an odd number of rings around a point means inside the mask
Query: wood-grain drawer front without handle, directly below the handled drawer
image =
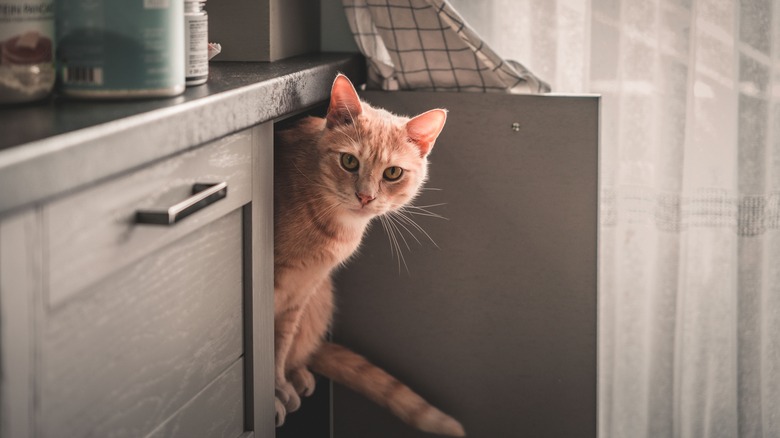
<svg viewBox="0 0 780 438"><path fill-rule="evenodd" d="M46 315L39 436L144 437L164 429L204 388L241 387L235 370L225 372L243 348L242 222L241 209L229 212ZM243 427L235 415L195 406L204 424Z"/></svg>

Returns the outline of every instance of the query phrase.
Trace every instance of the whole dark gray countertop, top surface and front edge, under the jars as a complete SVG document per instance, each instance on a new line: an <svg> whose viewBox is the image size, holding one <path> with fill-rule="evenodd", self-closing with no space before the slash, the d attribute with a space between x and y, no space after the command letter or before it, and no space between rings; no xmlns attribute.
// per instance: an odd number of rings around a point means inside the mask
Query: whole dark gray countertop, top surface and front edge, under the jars
<svg viewBox="0 0 780 438"><path fill-rule="evenodd" d="M173 98L0 107L0 214L316 105L339 71L362 82L362 57L214 62L205 85Z"/></svg>

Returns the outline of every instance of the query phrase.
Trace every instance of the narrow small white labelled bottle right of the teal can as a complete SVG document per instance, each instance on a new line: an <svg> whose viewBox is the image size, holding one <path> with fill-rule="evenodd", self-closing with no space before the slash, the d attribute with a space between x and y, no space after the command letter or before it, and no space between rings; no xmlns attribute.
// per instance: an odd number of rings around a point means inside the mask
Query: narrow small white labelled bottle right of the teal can
<svg viewBox="0 0 780 438"><path fill-rule="evenodd" d="M184 54L187 85L206 83L209 77L209 16L206 2L184 2Z"/></svg>

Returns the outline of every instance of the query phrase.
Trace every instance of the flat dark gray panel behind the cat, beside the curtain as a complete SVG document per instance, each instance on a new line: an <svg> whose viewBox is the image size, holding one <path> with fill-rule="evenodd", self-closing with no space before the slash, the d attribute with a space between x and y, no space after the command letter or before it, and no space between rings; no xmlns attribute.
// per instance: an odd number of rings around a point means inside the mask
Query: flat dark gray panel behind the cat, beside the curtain
<svg viewBox="0 0 780 438"><path fill-rule="evenodd" d="M450 110L408 273L376 224L338 277L334 336L474 437L595 437L598 98L365 93ZM518 123L519 130L512 128ZM409 227L407 225L407 227ZM409 227L411 228L411 227ZM334 387L335 438L415 437Z"/></svg>

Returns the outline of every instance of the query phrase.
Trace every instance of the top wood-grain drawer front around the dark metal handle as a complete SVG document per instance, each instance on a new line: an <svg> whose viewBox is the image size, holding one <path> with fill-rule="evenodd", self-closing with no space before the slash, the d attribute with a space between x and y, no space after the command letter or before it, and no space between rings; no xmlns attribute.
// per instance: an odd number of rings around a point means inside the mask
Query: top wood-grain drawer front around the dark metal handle
<svg viewBox="0 0 780 438"><path fill-rule="evenodd" d="M50 308L251 199L251 131L47 204L44 224ZM138 210L165 209L196 183L227 182L225 199L173 226L135 223Z"/></svg>

